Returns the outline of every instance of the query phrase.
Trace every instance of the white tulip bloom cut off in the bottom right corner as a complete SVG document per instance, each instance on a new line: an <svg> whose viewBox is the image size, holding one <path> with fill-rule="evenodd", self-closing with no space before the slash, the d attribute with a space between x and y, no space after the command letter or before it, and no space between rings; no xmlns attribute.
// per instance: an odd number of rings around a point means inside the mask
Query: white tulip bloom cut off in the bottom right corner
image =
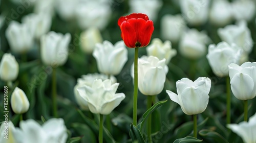
<svg viewBox="0 0 256 143"><path fill-rule="evenodd" d="M249 118L249 122L243 121L239 124L228 124L227 127L237 133L245 143L256 142L256 113Z"/></svg>

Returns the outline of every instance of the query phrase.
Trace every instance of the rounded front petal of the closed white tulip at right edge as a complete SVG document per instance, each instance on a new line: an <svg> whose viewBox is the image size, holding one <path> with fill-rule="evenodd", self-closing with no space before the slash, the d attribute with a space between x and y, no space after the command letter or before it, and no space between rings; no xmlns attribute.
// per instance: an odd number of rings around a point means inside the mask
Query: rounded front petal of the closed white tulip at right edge
<svg viewBox="0 0 256 143"><path fill-rule="evenodd" d="M253 80L247 74L238 73L230 81L231 90L239 100L249 100L255 97L252 94L254 87Z"/></svg>

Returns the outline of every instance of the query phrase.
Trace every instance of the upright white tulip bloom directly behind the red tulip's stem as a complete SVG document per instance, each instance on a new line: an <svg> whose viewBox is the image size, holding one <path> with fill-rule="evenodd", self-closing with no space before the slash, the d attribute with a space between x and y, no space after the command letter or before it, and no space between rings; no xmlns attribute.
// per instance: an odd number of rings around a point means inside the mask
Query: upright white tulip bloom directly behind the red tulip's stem
<svg viewBox="0 0 256 143"><path fill-rule="evenodd" d="M164 87L168 67L165 59L159 60L154 56L142 56L138 59L138 88L146 96L159 94ZM134 63L131 68L134 78Z"/></svg>

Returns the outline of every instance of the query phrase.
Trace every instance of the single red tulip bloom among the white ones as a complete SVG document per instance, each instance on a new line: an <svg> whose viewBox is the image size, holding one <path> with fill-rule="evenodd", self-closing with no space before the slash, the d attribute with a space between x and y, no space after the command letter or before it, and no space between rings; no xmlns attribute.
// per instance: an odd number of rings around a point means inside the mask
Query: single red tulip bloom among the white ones
<svg viewBox="0 0 256 143"><path fill-rule="evenodd" d="M146 14L133 13L118 19L121 37L127 47L144 47L150 43L153 21Z"/></svg>

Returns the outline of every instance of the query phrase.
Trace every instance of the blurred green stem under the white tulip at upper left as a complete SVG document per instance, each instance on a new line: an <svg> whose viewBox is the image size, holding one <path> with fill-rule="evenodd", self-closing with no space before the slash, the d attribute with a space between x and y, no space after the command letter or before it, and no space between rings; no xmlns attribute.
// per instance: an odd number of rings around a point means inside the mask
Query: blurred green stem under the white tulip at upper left
<svg viewBox="0 0 256 143"><path fill-rule="evenodd" d="M57 91L56 91L56 68L52 69L52 108L53 116L58 117L57 114Z"/></svg>

